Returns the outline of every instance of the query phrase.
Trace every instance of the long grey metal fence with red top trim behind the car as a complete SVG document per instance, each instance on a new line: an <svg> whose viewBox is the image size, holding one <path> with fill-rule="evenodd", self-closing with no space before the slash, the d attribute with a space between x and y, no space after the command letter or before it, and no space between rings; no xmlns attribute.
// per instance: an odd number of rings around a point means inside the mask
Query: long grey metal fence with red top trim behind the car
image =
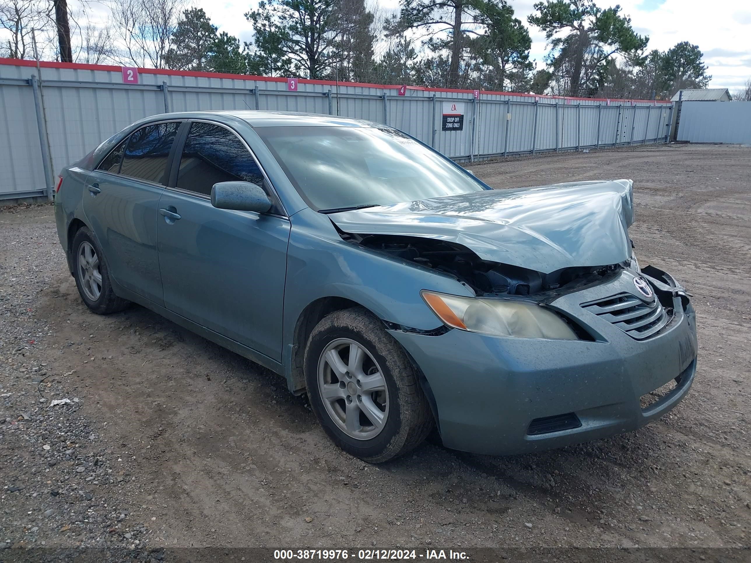
<svg viewBox="0 0 751 563"><path fill-rule="evenodd" d="M672 107L652 101L472 91L0 60L0 199L51 193L57 171L137 119L170 111L285 110L369 119L451 158L662 143ZM448 104L448 105L447 105ZM456 104L456 108L452 107ZM442 131L443 113L463 114ZM44 166L47 161L50 164Z"/></svg>

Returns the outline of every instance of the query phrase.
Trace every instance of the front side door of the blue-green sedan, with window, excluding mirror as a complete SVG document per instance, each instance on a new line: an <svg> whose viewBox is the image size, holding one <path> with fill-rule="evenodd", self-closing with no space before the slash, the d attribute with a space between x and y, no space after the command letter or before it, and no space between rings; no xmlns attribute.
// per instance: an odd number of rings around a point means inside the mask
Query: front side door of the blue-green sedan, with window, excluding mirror
<svg viewBox="0 0 751 563"><path fill-rule="evenodd" d="M175 161L176 185L158 206L164 306L281 361L290 222L273 188L246 143L225 125L192 122ZM212 206L212 186L233 180L264 188L274 208Z"/></svg>

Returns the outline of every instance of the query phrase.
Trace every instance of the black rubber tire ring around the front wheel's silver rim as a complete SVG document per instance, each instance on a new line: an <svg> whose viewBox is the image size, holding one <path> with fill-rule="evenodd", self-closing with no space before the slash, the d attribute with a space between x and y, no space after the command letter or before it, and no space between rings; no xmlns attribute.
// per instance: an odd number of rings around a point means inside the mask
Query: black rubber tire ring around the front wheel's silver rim
<svg viewBox="0 0 751 563"><path fill-rule="evenodd" d="M351 436L346 435L345 432L339 429L339 426L336 426L336 423L331 419L331 415L326 410L323 399L321 399L321 393L318 390L318 361L321 357L321 352L329 342L342 338L354 340L354 342L363 345L379 364L386 381L386 389L388 390L388 417L386 425L378 435L369 440L351 438ZM391 441L401 429L400 394L394 380L394 375L392 375L388 358L379 352L379 348L368 336L356 330L351 330L348 327L330 327L321 333L314 334L309 342L308 354L306 354L305 373L310 406L321 426L323 426L324 431L339 447L363 459L379 456L388 448Z"/></svg>

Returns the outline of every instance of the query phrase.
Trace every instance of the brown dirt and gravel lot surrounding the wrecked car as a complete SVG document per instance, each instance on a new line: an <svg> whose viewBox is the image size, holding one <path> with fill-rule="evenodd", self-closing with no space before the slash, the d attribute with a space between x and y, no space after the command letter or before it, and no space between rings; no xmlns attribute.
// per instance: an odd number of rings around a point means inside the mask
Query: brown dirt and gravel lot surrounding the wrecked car
<svg viewBox="0 0 751 563"><path fill-rule="evenodd" d="M676 410L564 450L493 458L433 443L366 465L278 376L137 306L92 315L52 207L5 209L0 547L748 546L751 149L471 168L496 188L635 180L640 262L683 281L698 312L698 375Z"/></svg>

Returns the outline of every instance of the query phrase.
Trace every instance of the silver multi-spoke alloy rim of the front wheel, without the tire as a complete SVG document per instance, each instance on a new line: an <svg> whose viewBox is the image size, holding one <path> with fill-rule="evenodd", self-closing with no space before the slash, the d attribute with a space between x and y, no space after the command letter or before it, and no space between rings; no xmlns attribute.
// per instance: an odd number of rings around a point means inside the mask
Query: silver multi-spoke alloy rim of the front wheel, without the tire
<svg viewBox="0 0 751 563"><path fill-rule="evenodd" d="M318 392L342 432L357 440L379 435L388 418L388 388L383 372L363 345L336 339L318 359Z"/></svg>

